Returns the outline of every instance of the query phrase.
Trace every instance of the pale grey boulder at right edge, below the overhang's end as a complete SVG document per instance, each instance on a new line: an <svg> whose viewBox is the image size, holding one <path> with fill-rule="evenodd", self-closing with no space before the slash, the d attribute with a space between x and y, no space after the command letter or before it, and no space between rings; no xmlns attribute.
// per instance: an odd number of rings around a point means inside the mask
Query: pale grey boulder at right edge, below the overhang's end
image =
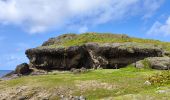
<svg viewBox="0 0 170 100"><path fill-rule="evenodd" d="M170 57L150 57L146 61L152 69L168 70L170 69Z"/></svg>

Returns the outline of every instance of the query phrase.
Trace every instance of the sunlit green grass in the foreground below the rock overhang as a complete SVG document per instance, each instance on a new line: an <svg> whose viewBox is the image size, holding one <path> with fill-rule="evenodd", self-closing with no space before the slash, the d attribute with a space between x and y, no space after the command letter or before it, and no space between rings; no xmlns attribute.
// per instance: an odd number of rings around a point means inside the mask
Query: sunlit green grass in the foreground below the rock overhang
<svg viewBox="0 0 170 100"><path fill-rule="evenodd" d="M50 73L49 75L21 77L9 81L0 81L0 94L5 91L10 93L11 89L18 87L29 87L32 91L39 89L41 92L51 94L50 99L59 98L59 95L80 96L83 95L88 100L98 99L118 99L128 96L129 100L170 98L170 92L158 94L156 85L145 85L149 76L162 71L152 69L136 69L130 65L121 69L99 69L91 70L83 74L73 74L71 72ZM169 84L162 84L162 87L169 89ZM25 93L23 91L23 93ZM36 92L38 93L38 92ZM58 93L57 96L53 96ZM26 95L26 94L22 94ZM142 97L142 98L141 98ZM121 99L122 99L121 98ZM128 100L128 99L127 99ZM158 99L159 100L159 99Z"/></svg>

